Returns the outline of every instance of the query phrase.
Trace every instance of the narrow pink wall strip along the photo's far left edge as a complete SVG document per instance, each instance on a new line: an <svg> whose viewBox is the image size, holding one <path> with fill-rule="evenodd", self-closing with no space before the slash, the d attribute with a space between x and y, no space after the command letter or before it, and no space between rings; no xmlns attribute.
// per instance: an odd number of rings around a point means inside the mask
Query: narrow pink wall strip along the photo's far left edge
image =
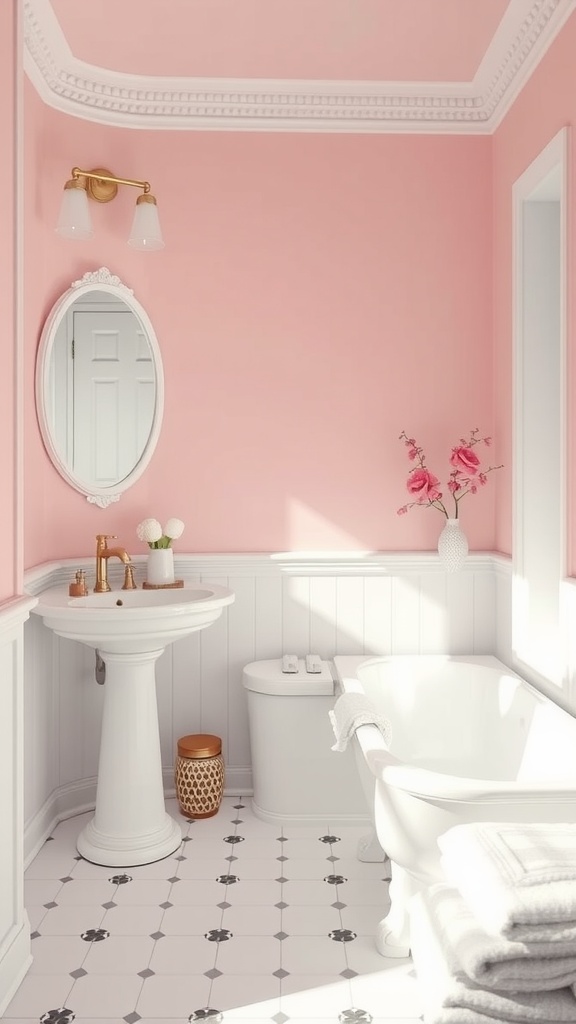
<svg viewBox="0 0 576 1024"><path fill-rule="evenodd" d="M15 32L16 3L0 4L0 196L3 215L0 230L0 281L2 315L0 317L0 435L2 437L2 496L0 500L0 537L4 557L0 559L0 601L20 592L20 552L16 525L17 467L15 452L16 382L14 379L16 344L15 295L15 146L16 90L18 72Z"/></svg>

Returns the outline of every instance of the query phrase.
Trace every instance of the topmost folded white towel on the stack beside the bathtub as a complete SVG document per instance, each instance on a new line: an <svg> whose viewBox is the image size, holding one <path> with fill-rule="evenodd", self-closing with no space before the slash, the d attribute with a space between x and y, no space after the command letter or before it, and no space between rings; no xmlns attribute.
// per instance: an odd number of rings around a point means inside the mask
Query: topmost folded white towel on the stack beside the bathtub
<svg viewBox="0 0 576 1024"><path fill-rule="evenodd" d="M448 882L492 934L576 940L576 825L475 822L438 841Z"/></svg>

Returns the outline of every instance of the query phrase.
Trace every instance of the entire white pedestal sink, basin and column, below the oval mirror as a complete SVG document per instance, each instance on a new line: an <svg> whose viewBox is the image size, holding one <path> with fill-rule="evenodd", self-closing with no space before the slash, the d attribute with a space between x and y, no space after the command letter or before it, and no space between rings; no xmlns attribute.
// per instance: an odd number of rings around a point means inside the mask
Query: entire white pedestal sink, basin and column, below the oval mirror
<svg viewBox="0 0 576 1024"><path fill-rule="evenodd" d="M150 864L179 846L180 827L164 806L155 665L167 644L206 629L234 598L214 584L41 594L34 613L58 636L97 648L106 663L96 807L77 843L86 860Z"/></svg>

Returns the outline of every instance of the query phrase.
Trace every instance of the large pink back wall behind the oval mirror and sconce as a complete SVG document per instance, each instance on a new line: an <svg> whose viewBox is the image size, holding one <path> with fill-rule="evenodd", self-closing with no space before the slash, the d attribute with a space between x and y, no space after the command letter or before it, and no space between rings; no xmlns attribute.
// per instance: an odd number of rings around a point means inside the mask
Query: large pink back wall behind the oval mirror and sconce
<svg viewBox="0 0 576 1024"><path fill-rule="evenodd" d="M428 550L440 513L405 501L402 429L444 475L492 433L488 137L149 132L66 117L26 86L26 562L143 553L145 516L187 523L181 551ZM70 169L147 177L166 249L125 245L134 194L93 205L95 237L54 234ZM106 265L134 290L166 374L147 472L101 510L44 453L34 360L54 299ZM493 453L498 455L498 453ZM462 506L495 542L491 482Z"/></svg>

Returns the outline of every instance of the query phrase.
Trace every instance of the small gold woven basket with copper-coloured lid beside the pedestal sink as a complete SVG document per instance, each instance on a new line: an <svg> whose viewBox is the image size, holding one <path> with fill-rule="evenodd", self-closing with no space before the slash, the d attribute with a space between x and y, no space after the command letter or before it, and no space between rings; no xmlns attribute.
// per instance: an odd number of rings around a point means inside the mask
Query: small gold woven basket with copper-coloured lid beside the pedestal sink
<svg viewBox="0 0 576 1024"><path fill-rule="evenodd" d="M224 762L219 736L206 732L178 739L174 768L176 798L189 818L216 814L224 788Z"/></svg>

